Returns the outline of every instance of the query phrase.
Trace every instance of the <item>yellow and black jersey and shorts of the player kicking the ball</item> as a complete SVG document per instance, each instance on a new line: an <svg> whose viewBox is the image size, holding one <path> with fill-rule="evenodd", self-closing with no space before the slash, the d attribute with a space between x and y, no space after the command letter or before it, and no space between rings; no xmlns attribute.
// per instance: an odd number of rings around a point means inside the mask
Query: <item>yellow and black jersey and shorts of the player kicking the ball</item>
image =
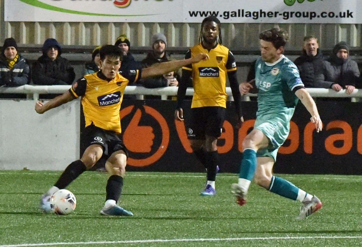
<svg viewBox="0 0 362 247"><path fill-rule="evenodd" d="M81 96L85 129L81 143L84 150L93 144L103 147L105 155L127 149L119 134L121 121L119 110L123 92L127 85L141 77L141 70L118 72L113 80L106 78L101 71L85 75L73 83L69 92L73 97Z"/></svg>

